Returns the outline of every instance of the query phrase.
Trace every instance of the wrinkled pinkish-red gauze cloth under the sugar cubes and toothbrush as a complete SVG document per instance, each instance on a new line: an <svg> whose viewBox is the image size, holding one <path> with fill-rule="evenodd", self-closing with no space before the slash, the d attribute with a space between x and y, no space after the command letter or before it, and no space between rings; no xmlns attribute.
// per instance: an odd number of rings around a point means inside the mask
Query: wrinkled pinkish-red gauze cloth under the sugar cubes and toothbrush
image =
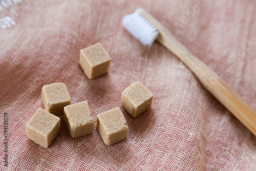
<svg viewBox="0 0 256 171"><path fill-rule="evenodd" d="M255 1L24 0L0 11L16 22L0 28L1 170L255 170L255 136L172 52L159 42L144 47L123 28L121 18L139 7L256 108ZM79 54L97 42L112 61L108 74L90 80ZM154 94L138 118L121 103L121 92L135 81ZM87 100L94 119L119 106L128 137L105 145L95 127L72 138L60 116L49 148L28 139L26 123L44 108L42 86L53 82L67 85L72 103Z"/></svg>

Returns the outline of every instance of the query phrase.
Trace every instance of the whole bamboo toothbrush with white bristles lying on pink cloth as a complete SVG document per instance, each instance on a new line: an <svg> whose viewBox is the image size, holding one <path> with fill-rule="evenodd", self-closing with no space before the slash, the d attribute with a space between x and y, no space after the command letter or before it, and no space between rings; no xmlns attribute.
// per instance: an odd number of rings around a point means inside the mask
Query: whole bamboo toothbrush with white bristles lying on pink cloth
<svg viewBox="0 0 256 171"><path fill-rule="evenodd" d="M256 136L256 110L205 63L192 55L156 18L144 9L138 8L135 13L125 15L122 24L142 44L151 46L157 39L172 51L203 86Z"/></svg>

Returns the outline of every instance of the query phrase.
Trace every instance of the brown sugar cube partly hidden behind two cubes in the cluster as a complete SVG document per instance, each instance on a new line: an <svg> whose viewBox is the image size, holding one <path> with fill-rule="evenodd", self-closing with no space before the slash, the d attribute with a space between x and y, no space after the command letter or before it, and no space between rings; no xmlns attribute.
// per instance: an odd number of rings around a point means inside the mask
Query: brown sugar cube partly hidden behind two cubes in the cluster
<svg viewBox="0 0 256 171"><path fill-rule="evenodd" d="M59 82L42 87L42 102L46 111L56 116L62 115L64 107L71 104L66 84Z"/></svg>

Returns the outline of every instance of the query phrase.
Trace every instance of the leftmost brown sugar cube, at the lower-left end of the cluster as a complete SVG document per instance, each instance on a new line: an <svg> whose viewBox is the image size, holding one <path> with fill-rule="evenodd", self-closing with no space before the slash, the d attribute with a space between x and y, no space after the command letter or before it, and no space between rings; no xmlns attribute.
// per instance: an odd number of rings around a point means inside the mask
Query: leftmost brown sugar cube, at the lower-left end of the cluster
<svg viewBox="0 0 256 171"><path fill-rule="evenodd" d="M59 132L60 119L39 108L26 124L28 138L47 148Z"/></svg>

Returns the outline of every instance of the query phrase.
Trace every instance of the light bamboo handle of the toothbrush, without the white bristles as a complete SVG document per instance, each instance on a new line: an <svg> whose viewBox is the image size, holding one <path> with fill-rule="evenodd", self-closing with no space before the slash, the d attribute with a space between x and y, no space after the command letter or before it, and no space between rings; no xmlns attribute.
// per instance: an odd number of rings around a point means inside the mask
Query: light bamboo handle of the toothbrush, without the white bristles
<svg viewBox="0 0 256 171"><path fill-rule="evenodd" d="M256 136L256 110L236 91L228 86L214 71L192 55L157 19L144 9L135 12L143 15L159 31L157 40L178 56L197 76L203 86L214 95L234 116Z"/></svg>

